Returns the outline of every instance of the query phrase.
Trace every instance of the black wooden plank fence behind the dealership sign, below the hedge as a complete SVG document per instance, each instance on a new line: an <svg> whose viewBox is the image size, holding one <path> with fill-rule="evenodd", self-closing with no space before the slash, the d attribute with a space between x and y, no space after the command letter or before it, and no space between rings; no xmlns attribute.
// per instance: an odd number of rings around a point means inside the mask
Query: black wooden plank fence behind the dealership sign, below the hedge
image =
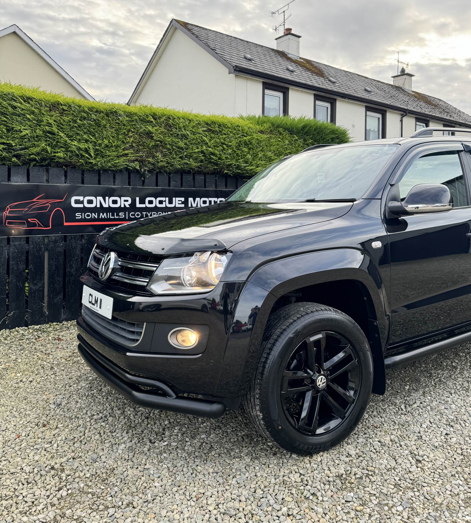
<svg viewBox="0 0 471 523"><path fill-rule="evenodd" d="M236 189L242 178L0 165L0 183ZM171 195L169 195L171 196ZM0 329L75 320L95 234L0 237Z"/></svg>

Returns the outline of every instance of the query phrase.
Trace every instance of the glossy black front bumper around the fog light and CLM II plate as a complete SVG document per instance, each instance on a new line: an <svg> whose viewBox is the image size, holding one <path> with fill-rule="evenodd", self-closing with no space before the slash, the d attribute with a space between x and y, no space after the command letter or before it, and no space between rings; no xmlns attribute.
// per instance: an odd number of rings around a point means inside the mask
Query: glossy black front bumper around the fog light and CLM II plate
<svg viewBox="0 0 471 523"><path fill-rule="evenodd" d="M222 373L234 312L217 310L217 303L222 303L224 292L228 292L229 301L235 304L243 282L221 282L213 292L204 295L157 298L112 292L88 274L81 280L84 285L113 298L113 317L145 323L140 342L130 346L109 339L104 331L79 316L79 336L97 353L122 369L170 385L177 394L216 399L240 396L237 377L245 366L243 357L232 358L230 368ZM188 350L171 347L167 335L178 326L188 326L198 332L201 345ZM221 379L225 383L222 390Z"/></svg>

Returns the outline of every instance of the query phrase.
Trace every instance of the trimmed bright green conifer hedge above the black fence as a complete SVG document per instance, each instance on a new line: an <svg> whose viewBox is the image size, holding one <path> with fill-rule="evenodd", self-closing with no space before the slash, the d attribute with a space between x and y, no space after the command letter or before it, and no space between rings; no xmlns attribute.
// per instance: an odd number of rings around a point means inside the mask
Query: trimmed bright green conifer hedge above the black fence
<svg viewBox="0 0 471 523"><path fill-rule="evenodd" d="M199 115L0 83L0 164L250 177L348 131L309 118Z"/></svg>

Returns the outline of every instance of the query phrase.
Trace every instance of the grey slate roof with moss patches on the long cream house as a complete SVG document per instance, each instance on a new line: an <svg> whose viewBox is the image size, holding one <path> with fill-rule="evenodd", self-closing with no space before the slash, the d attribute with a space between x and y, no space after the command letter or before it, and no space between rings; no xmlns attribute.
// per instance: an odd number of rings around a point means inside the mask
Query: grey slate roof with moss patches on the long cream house
<svg viewBox="0 0 471 523"><path fill-rule="evenodd" d="M213 31L205 27L176 20L178 25L187 29L205 46L229 64L234 72L252 73L258 76L270 76L280 82L303 85L305 88L319 89L344 97L360 99L364 103L384 105L439 120L471 126L471 116L447 104L446 101L416 91L409 92L403 87L387 84L338 67L315 62L307 58L294 59L277 49L258 43L242 40ZM254 61L244 58L250 55ZM294 72L286 69L290 66ZM333 79L335 83L331 81ZM371 90L371 93L365 90Z"/></svg>

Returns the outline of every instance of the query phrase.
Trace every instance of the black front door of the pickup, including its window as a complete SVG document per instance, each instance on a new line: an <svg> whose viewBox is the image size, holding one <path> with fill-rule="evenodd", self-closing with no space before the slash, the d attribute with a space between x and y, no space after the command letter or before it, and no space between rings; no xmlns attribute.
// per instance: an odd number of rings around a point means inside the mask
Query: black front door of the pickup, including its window
<svg viewBox="0 0 471 523"><path fill-rule="evenodd" d="M471 321L471 207L461 144L414 150L395 175L401 200L418 184L449 187L453 209L386 220L391 261L389 344ZM466 162L466 163L465 163Z"/></svg>

